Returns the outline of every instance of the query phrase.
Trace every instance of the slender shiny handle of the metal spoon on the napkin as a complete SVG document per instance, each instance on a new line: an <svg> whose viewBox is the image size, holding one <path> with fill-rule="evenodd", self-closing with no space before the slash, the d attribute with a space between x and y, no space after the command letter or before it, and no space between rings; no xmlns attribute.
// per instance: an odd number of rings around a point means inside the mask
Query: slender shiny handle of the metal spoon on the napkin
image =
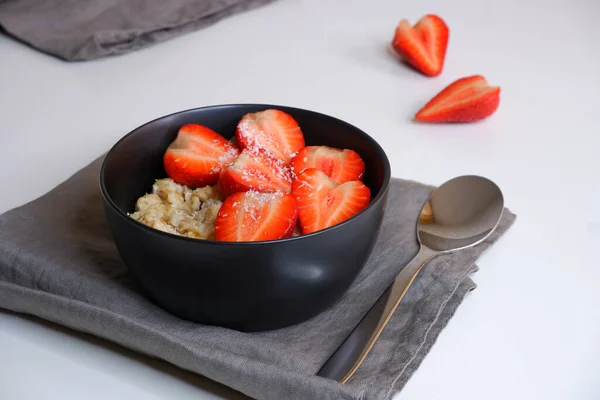
<svg viewBox="0 0 600 400"><path fill-rule="evenodd" d="M367 357L410 285L437 251L421 246L419 253L371 307L352 333L318 372L318 376L346 383Z"/></svg>

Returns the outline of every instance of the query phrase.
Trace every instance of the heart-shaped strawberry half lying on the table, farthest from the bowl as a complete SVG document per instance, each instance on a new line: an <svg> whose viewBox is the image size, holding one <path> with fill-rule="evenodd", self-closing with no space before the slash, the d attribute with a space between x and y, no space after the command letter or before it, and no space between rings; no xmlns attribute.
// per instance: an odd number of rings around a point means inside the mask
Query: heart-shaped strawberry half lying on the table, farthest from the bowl
<svg viewBox="0 0 600 400"><path fill-rule="evenodd" d="M437 15L426 15L412 27L400 21L392 46L410 65L427 76L437 76L444 68L449 30Z"/></svg>

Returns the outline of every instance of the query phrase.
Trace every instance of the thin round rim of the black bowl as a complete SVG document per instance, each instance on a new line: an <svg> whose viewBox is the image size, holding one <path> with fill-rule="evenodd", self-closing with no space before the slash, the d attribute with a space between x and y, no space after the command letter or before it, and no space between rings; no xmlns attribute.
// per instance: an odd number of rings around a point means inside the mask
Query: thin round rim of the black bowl
<svg viewBox="0 0 600 400"><path fill-rule="evenodd" d="M375 151L378 153L378 155L380 156L382 162L383 162L383 169L384 169L384 179L383 179L383 184L381 186L381 188L379 189L379 192L377 193L377 196L375 196L371 202L369 203L369 205L367 207L365 207L363 210L361 210L359 213L353 215L352 217L348 218L345 221L342 221L336 225L330 226L328 228L325 229L321 229L319 231L315 231L312 233L308 233L306 235L300 235L300 236L294 236L294 237L289 237L289 238L284 238L284 239L272 239L272 240L261 240L261 241L253 241L253 242L226 242L226 241L219 241L219 240L209 240L209 239L197 239L197 238L190 238L187 236L181 236L181 235L175 235L172 233L168 233L168 232L163 232L161 230L152 228L146 224L143 224L133 218L131 218L128 213L126 213L125 211L123 211L119 206L117 206L117 204L113 201L113 199L111 198L111 196L108 194L108 190L106 189L106 185L104 183L105 179L105 171L106 171L106 164L107 164L107 160L109 159L109 157L114 154L115 150L119 147L119 145L121 144L121 142L127 140L128 137L134 135L137 131L139 131L140 129L146 127L147 125L151 125L153 123L156 123L157 121L166 119L166 118L170 118L170 117L174 117L176 115L179 114L186 114L192 111L198 111L198 110L207 110L207 109L222 109L222 108L239 108L239 107L253 107L253 108L264 108L264 109L269 109L269 108L285 108L288 111L301 111L301 112L308 112L310 114L315 114L317 116L320 117L325 117L331 120L334 120L335 122L339 122L342 125L346 125L349 128L352 128L355 131L358 131L360 134L364 135L365 138L367 139L368 142L370 142L371 146L373 146L373 148L375 149ZM287 111L286 111L287 112ZM142 125L139 125L138 127L132 129L131 131L129 131L126 135L124 135L123 137L121 137L114 145L111 146L111 148L108 150L108 152L106 152L104 159L102 160L102 166L100 167L100 175L99 175L99 183L100 183L100 192L102 194L102 197L104 198L104 200L108 203L108 205L117 212L117 214L119 214L119 216L124 217L125 219L127 219L128 221L132 222L135 226L140 227L141 229L145 229L146 231L153 233L153 234L157 234L157 235L162 235L165 237L169 237L171 239L174 240L183 240L183 241L188 241L191 243L204 243L204 244L211 244L211 245L219 245L219 246L256 246L256 245L264 245L264 244L275 244L275 243L288 243L288 242L294 242L294 241L298 241L298 240L303 240L303 239L308 239L311 237L315 237L315 236L319 236L321 234L324 234L326 232L331 232L335 229L341 229L342 226L347 225L352 223L351 221L358 218L359 216L361 216L362 214L364 214L367 210L369 210L370 208L372 208L376 203L378 203L379 201L381 201L381 199L386 195L389 185L390 185L390 181L391 181L391 165L390 165L390 161L387 157L387 154L385 153L385 151L383 150L383 148L381 147L381 145L372 137L370 136L368 133L366 133L365 131L363 131L362 129L358 128L355 125L350 124L349 122L346 122L342 119L336 118L334 116L328 115L328 114L324 114L318 111L313 111L313 110L309 110L309 109L305 109L305 108L299 108L299 107L292 107L292 106L286 106L286 105L277 105L277 104L263 104L263 103L223 103L223 104L213 104L213 105L208 105L208 106L201 106L201 107L194 107L194 108L189 108L186 110L181 110L181 111L176 111L173 112L171 114L166 114L163 116L160 116L158 118L155 118L151 121L148 121Z"/></svg>

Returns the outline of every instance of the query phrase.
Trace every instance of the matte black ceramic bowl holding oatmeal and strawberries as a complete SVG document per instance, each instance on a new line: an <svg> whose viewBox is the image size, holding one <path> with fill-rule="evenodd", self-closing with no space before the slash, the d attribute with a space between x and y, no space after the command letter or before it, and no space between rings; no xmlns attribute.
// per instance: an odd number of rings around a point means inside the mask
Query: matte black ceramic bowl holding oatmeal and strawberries
<svg viewBox="0 0 600 400"><path fill-rule="evenodd" d="M354 217L309 235L226 243L180 237L130 218L136 200L166 177L162 156L179 127L206 125L226 138L248 112L283 110L307 145L357 151L366 165L370 205ZM183 319L241 331L305 321L338 300L358 275L377 239L390 165L366 133L339 119L297 108L239 104L203 107L149 122L123 137L102 164L100 186L116 246L152 300Z"/></svg>

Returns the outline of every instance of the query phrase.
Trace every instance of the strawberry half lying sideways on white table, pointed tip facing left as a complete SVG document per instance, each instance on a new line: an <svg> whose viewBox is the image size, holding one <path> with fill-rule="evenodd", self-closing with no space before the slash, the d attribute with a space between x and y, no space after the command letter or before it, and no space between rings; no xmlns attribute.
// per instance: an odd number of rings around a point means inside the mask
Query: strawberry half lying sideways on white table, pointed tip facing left
<svg viewBox="0 0 600 400"><path fill-rule="evenodd" d="M461 78L429 101L415 118L426 122L474 122L489 117L500 104L500 88L481 75Z"/></svg>

